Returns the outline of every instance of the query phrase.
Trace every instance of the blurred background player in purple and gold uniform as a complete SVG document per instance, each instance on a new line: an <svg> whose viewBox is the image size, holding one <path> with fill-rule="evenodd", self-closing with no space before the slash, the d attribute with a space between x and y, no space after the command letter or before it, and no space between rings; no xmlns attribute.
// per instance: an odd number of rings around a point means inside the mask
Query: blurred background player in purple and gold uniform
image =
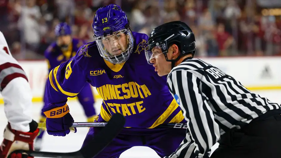
<svg viewBox="0 0 281 158"><path fill-rule="evenodd" d="M81 45L85 44L84 41L71 37L71 28L65 22L62 22L55 27L55 34L57 36L57 41L53 42L44 53L45 58L47 59L49 72L56 66L74 57L78 48ZM95 100L93 97L91 85L89 83L85 84L77 97L79 102L83 106L87 121L93 122L94 117L96 116L96 112L94 108ZM44 107L46 106L47 104L44 104ZM41 112L41 118L39 121L44 122L45 120L46 116L43 112ZM38 137L36 138L36 151L40 150L41 148L43 134L44 130L41 129Z"/></svg>

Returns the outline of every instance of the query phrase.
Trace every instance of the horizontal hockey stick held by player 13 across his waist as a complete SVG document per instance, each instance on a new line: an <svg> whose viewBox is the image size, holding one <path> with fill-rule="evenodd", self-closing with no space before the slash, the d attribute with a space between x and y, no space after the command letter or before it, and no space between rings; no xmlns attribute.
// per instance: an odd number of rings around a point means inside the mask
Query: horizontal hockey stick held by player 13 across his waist
<svg viewBox="0 0 281 158"><path fill-rule="evenodd" d="M106 122L74 122L72 124L72 128L74 127L104 127L106 126ZM183 128L186 129L186 123L168 123L162 124L157 127L165 127L165 128ZM46 123L38 123L38 128L46 128ZM73 131L73 129L70 129Z"/></svg>

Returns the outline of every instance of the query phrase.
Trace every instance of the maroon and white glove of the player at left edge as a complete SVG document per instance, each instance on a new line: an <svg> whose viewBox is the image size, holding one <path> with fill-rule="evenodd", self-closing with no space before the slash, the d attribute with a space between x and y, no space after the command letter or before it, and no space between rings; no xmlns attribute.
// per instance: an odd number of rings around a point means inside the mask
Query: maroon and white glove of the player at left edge
<svg viewBox="0 0 281 158"><path fill-rule="evenodd" d="M39 133L38 124L32 120L29 132L21 132L11 128L8 124L4 130L4 140L0 146L0 158L7 158L15 150L33 150L33 140ZM10 158L33 158L26 154L12 153Z"/></svg>

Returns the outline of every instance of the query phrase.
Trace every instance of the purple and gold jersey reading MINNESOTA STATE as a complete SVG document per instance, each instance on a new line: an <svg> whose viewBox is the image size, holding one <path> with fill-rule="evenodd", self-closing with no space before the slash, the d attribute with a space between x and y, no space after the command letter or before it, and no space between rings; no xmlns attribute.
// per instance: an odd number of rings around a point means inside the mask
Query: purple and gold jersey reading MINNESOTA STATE
<svg viewBox="0 0 281 158"><path fill-rule="evenodd" d="M159 77L147 64L144 49L148 36L133 32L133 37L133 52L121 64L105 61L95 41L80 47L73 58L51 70L46 101L64 106L67 97L75 97L88 82L103 98L98 120L109 121L118 112L126 118L125 127L154 128L184 121L166 86L166 76Z"/></svg>

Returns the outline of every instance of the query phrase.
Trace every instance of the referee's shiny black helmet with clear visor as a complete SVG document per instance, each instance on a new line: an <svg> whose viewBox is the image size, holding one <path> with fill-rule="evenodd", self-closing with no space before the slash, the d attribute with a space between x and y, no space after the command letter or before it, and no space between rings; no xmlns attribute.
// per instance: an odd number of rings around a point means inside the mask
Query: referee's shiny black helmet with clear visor
<svg viewBox="0 0 281 158"><path fill-rule="evenodd" d="M181 55L174 60L168 60L168 48L172 44L177 44ZM148 46L146 47L146 59L149 62L152 55L152 48L161 48L167 61L175 62L181 56L191 53L195 54L195 36L190 27L182 21L172 21L160 25L152 30L148 38ZM150 63L151 64L151 63ZM173 64L174 65L174 64Z"/></svg>

